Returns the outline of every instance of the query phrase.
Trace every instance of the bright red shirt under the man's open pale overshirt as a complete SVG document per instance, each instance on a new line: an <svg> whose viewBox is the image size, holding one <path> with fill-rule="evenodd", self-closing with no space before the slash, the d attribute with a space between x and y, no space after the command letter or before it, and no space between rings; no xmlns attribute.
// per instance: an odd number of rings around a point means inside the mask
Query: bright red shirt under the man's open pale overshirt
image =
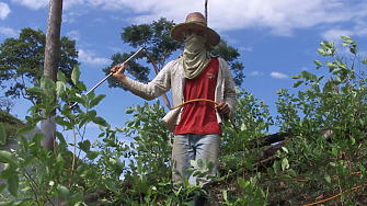
<svg viewBox="0 0 367 206"><path fill-rule="evenodd" d="M195 99L215 100L219 61L211 58L204 71L194 79L185 80L185 101ZM221 134L217 121L215 104L211 102L192 102L184 105L179 125L174 129L175 135L182 134Z"/></svg>

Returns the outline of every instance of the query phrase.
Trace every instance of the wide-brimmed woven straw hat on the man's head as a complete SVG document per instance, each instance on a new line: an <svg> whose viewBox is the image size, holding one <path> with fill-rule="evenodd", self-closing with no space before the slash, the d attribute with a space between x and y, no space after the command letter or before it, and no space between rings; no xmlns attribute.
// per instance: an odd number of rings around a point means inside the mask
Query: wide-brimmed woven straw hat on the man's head
<svg viewBox="0 0 367 206"><path fill-rule="evenodd" d="M190 13L184 23L177 24L171 30L171 36L173 39L179 42L184 42L184 31L193 28L193 30L202 30L207 34L207 42L211 46L217 46L220 41L219 34L207 26L206 20L200 12Z"/></svg>

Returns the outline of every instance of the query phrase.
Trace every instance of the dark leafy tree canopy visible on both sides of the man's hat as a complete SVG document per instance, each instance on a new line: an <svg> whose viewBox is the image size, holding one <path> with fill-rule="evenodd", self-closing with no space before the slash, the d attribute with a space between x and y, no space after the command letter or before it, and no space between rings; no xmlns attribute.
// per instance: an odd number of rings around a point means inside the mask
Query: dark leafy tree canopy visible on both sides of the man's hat
<svg viewBox="0 0 367 206"><path fill-rule="evenodd" d="M157 70L160 70L174 52L183 48L183 43L174 41L170 36L171 28L174 25L173 21L168 21L167 19L161 18L158 21L153 21L151 24L139 24L123 27L121 36L124 43L127 43L134 48L146 46L145 53L139 54L135 59L149 57L154 61ZM111 58L113 60L112 64L104 68L103 71L106 75L110 73L110 69L113 66L122 64L134 52L114 54ZM240 56L238 49L229 46L226 41L221 41L211 53L213 55L219 55L227 60L233 72L234 84L240 87L244 79L244 66L238 60L238 57ZM148 59L146 62L151 61ZM127 72L135 79L141 82L149 81L149 68L147 66L144 66L134 59L130 60L127 66ZM121 82L113 78L108 79L108 85L111 88L122 88Z"/></svg>

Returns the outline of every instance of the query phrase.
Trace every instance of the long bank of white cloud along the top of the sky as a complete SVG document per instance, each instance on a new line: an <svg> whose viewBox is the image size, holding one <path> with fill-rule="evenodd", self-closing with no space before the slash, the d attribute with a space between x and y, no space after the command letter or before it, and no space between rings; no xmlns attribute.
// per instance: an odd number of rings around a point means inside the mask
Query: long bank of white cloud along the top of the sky
<svg viewBox="0 0 367 206"><path fill-rule="evenodd" d="M12 1L31 9L48 5L48 0ZM131 0L65 0L66 10L74 11L74 8L124 12L130 16L127 21L135 24L150 23L161 16L181 23L188 12L204 12L203 1L197 0L140 0L139 3ZM256 27L275 35L293 35L297 28L358 20L364 22L366 11L367 3L359 0L213 0L208 3L208 22L219 32ZM363 26L360 32L365 33Z"/></svg>

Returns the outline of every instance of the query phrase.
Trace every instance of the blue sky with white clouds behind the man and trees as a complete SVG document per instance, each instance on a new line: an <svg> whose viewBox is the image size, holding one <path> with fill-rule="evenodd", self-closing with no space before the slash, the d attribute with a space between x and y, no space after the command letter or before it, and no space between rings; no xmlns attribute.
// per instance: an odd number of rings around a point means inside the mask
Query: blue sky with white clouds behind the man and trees
<svg viewBox="0 0 367 206"><path fill-rule="evenodd" d="M0 42L18 37L24 27L46 33L48 3L0 0ZM81 80L90 89L104 78L102 68L111 64L113 54L133 50L121 41L122 27L161 16L181 23L192 11L204 12L204 0L64 0L61 35L77 41ZM246 76L242 88L264 100L274 116L276 91L293 91L291 76L316 71L313 60L323 59L317 52L321 42L334 41L343 55L340 35L347 35L359 45L360 56L367 55L366 20L363 0L208 0L209 26L241 54ZM326 69L318 72L326 73ZM125 108L144 102L110 89L107 82L95 92L107 95L96 110L113 126L124 126ZM24 118L28 106L26 101L16 101L12 113Z"/></svg>

